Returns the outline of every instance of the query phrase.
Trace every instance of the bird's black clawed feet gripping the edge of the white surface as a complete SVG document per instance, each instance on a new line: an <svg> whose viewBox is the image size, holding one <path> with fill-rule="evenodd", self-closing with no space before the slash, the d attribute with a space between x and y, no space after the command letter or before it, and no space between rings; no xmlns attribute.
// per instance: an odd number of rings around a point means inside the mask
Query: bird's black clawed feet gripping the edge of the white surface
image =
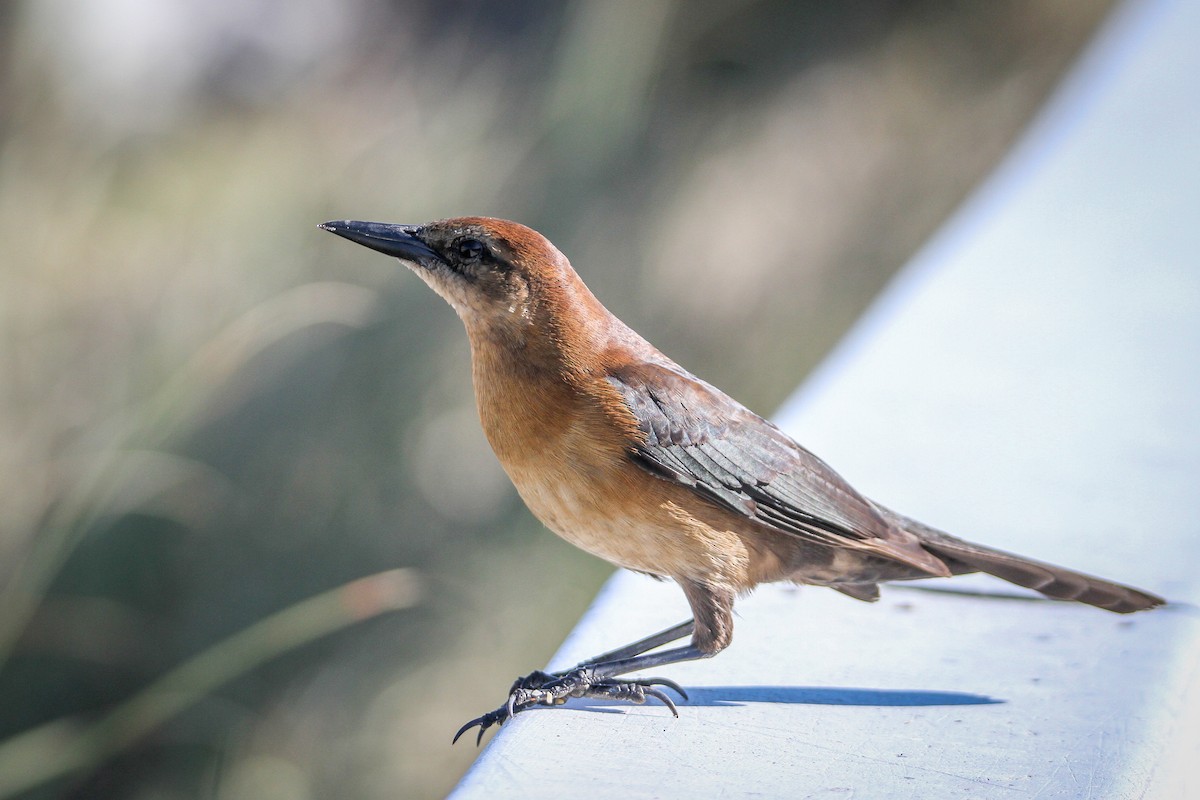
<svg viewBox="0 0 1200 800"><path fill-rule="evenodd" d="M534 705L562 705L571 697L598 697L638 704L644 703L648 697L654 697L662 700L671 709L671 714L678 717L679 711L674 703L662 690L655 688L656 686L666 686L683 699L688 699L688 692L666 678L646 678L643 680L599 678L592 667L576 667L565 673L545 673L539 669L524 678L517 678L512 688L509 690L508 703L458 728L454 741L458 741L462 734L478 726L479 735L475 736L475 746L478 747L484 740L484 732L493 724L502 726L515 715Z"/></svg>

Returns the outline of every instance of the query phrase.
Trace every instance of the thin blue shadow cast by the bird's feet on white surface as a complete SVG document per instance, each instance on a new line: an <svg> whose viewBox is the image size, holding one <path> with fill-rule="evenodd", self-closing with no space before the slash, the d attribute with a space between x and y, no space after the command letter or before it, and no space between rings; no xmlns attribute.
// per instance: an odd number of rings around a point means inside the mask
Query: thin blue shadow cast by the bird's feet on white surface
<svg viewBox="0 0 1200 800"><path fill-rule="evenodd" d="M972 694L930 690L857 688L845 686L688 686L688 699L680 705L746 705L748 703L786 703L790 705L866 705L866 706L930 706L930 705L995 705L1007 700ZM670 690L666 690L670 692ZM673 694L673 693L672 693ZM587 699L572 703L599 712L620 712L628 704Z"/></svg>

